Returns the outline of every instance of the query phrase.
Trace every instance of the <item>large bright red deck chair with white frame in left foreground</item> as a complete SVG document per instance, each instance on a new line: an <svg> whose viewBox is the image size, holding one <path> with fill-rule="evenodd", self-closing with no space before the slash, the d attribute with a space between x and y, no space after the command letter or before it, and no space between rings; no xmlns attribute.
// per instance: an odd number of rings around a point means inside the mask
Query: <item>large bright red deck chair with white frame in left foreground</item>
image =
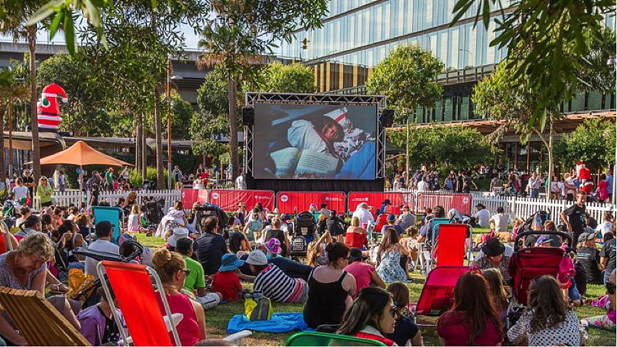
<svg viewBox="0 0 617 347"><path fill-rule="evenodd" d="M169 337L168 329L165 327L165 319L160 314L157 295L160 295L160 299L163 301L165 314L170 317L168 321L170 321L175 346L181 346L175 324L171 323L173 319L165 298L163 284L160 283L156 271L146 265L106 260L97 264L96 271L100 279L104 278L104 274L108 276L109 284L111 284L113 294L124 316L128 333L131 334L133 346L174 346ZM153 289L151 276L155 279L158 294ZM101 284L111 306L113 318L118 327L121 327L121 321L116 314L116 307L108 284L103 280L101 280ZM120 328L120 332L125 346L129 346L130 342L128 336L126 336L126 331Z"/></svg>

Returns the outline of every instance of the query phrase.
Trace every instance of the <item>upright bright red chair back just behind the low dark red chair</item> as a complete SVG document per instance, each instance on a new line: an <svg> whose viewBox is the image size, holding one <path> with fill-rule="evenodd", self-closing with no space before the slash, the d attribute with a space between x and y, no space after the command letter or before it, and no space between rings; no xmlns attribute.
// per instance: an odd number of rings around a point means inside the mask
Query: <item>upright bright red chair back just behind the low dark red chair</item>
<svg viewBox="0 0 617 347"><path fill-rule="evenodd" d="M437 266L462 266L465 258L467 224L440 224L435 246Z"/></svg>

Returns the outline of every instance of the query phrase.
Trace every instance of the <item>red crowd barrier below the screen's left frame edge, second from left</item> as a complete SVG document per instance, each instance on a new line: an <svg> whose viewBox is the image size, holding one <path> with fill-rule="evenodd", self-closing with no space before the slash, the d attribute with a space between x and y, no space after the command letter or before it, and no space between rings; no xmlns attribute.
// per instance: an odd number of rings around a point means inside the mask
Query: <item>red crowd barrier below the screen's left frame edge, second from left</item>
<svg viewBox="0 0 617 347"><path fill-rule="evenodd" d="M252 209L257 202L272 211L274 209L274 192L272 190L210 190L210 204L215 204L223 211L235 211L238 204L244 202L247 209Z"/></svg>

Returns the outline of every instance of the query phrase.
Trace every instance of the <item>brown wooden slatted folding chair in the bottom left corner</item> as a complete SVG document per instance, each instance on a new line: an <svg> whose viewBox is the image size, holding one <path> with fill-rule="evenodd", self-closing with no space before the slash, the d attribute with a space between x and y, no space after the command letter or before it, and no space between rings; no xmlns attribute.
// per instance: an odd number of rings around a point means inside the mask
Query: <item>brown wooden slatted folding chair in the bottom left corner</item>
<svg viewBox="0 0 617 347"><path fill-rule="evenodd" d="M90 346L39 291L0 287L0 305L30 346Z"/></svg>

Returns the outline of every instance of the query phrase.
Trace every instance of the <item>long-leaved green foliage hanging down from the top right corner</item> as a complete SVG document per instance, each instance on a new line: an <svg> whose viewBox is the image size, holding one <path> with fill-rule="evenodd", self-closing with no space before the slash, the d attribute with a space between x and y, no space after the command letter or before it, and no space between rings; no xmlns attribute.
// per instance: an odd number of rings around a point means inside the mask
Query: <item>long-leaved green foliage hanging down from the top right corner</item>
<svg viewBox="0 0 617 347"><path fill-rule="evenodd" d="M508 49L504 68L510 71L509 78L536 95L532 116L526 118L529 128L544 131L551 110L580 90L579 71L593 71L588 57L596 44L603 43L605 15L615 11L615 1L458 0L452 24L474 9L475 21L481 20L485 28L491 11L501 10L490 44ZM613 44L613 52L614 48Z"/></svg>

